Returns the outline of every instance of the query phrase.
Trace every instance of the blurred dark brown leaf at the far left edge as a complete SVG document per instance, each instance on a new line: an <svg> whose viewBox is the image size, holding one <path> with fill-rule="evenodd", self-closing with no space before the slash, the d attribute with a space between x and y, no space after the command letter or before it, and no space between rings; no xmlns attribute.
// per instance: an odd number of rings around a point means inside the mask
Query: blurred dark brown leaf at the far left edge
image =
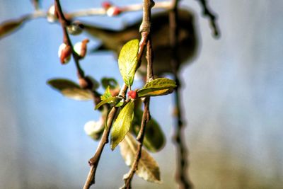
<svg viewBox="0 0 283 189"><path fill-rule="evenodd" d="M27 16L16 20L5 21L4 23L0 24L0 39L3 38L5 35L13 32L14 30L20 28L20 26L28 19Z"/></svg>

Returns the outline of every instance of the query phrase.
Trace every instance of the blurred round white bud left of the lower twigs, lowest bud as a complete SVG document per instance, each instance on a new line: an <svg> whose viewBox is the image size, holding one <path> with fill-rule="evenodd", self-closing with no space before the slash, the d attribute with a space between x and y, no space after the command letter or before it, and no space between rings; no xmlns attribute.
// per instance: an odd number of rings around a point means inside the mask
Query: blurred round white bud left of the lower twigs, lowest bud
<svg viewBox="0 0 283 189"><path fill-rule="evenodd" d="M83 127L86 134L94 140L100 139L101 135L103 134L104 125L103 119L100 118L98 122L96 121L89 121Z"/></svg>

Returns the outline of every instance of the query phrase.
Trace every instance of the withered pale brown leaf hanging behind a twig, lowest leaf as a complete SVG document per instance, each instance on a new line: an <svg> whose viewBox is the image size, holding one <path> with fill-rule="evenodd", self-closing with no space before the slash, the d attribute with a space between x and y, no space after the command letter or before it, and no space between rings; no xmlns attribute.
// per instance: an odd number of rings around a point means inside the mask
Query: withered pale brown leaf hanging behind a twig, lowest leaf
<svg viewBox="0 0 283 189"><path fill-rule="evenodd" d="M120 142L120 152L127 166L132 166L137 153L137 142L131 134L127 134ZM141 150L137 176L145 181L161 183L160 171L154 158L144 149Z"/></svg>

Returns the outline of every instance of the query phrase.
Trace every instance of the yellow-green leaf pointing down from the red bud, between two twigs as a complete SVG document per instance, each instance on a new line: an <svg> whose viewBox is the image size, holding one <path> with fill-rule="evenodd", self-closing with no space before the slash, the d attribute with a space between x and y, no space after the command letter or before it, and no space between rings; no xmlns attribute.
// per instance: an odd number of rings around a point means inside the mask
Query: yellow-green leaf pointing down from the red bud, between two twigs
<svg viewBox="0 0 283 189"><path fill-rule="evenodd" d="M129 101L127 105L120 111L117 119L115 120L112 132L110 146L114 150L115 147L124 139L125 135L129 132L129 128L134 118L134 101Z"/></svg>

